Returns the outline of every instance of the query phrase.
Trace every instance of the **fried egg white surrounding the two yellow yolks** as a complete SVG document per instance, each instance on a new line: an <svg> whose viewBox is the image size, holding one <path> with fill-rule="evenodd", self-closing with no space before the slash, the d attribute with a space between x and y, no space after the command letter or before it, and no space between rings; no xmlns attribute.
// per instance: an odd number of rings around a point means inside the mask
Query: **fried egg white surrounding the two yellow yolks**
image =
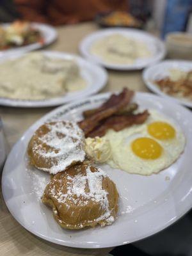
<svg viewBox="0 0 192 256"><path fill-rule="evenodd" d="M111 158L107 163L112 168L118 168L128 173L151 175L164 170L174 163L184 151L186 139L179 125L159 114L157 111L149 111L150 116L142 125L133 125L122 131L109 130L105 135L111 145ZM170 140L157 140L147 132L147 125L151 122L167 122L176 131L175 138ZM157 159L142 159L132 152L131 143L136 138L147 137L157 141L163 148L163 152Z"/></svg>

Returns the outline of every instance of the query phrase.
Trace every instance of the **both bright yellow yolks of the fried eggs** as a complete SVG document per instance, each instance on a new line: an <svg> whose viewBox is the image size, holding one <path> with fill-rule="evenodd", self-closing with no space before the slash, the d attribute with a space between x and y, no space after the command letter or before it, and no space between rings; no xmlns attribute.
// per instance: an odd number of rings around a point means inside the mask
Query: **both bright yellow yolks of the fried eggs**
<svg viewBox="0 0 192 256"><path fill-rule="evenodd" d="M166 122L153 122L147 126L148 134L157 140L170 140L175 137L175 129ZM132 141L132 151L143 159L157 159L161 156L163 148L151 138L142 137Z"/></svg>

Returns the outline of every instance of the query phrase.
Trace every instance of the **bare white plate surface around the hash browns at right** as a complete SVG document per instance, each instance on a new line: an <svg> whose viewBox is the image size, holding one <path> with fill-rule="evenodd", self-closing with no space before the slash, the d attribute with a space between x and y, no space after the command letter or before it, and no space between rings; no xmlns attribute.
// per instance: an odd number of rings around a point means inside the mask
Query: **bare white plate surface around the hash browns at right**
<svg viewBox="0 0 192 256"><path fill-rule="evenodd" d="M175 102L180 103L184 106L192 108L192 101L188 99L178 99L176 97L168 95L162 92L159 89L159 87L152 82L156 79L161 79L165 76L168 76L169 74L168 70L172 68L177 68L185 72L188 72L189 70L192 70L192 61L182 61L182 60L161 61L160 63L157 63L152 67L148 67L143 71L143 80L147 85L148 89L151 90L152 92L155 92L163 97L166 97L167 99L174 100Z"/></svg>

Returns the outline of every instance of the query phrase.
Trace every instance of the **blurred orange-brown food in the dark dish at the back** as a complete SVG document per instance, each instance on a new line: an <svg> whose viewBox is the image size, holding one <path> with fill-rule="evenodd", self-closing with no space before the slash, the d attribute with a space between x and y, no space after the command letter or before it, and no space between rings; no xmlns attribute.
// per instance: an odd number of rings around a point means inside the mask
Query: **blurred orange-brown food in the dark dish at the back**
<svg viewBox="0 0 192 256"><path fill-rule="evenodd" d="M101 26L122 26L122 27L132 27L132 28L140 28L141 22L136 19L131 13L127 12L111 12L105 15L100 15L99 19L97 19Z"/></svg>

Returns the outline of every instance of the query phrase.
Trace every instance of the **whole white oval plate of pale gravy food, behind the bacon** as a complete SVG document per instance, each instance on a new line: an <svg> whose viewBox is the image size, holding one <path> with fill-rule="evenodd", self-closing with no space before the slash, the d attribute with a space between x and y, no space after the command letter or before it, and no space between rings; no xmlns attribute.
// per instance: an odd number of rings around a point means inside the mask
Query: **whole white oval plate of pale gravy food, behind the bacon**
<svg viewBox="0 0 192 256"><path fill-rule="evenodd" d="M84 38L79 51L90 61L114 70L140 70L162 60L164 43L139 29L102 29Z"/></svg>

